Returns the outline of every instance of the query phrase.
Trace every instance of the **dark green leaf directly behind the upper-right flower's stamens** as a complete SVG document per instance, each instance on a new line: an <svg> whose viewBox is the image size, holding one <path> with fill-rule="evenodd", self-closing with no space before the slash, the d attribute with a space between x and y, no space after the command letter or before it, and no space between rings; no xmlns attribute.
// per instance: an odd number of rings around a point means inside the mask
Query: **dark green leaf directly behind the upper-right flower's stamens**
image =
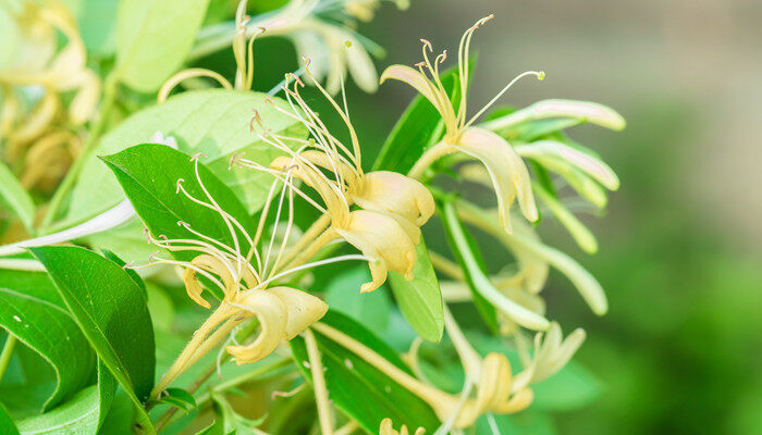
<svg viewBox="0 0 762 435"><path fill-rule="evenodd" d="M471 67L474 63L474 60L469 61ZM442 74L442 85L453 104L458 104L460 101L460 89L455 86L457 77L456 67ZM386 137L373 164L373 171L407 174L423 152L435 145L444 133L442 115L429 100L422 96L416 96Z"/></svg>

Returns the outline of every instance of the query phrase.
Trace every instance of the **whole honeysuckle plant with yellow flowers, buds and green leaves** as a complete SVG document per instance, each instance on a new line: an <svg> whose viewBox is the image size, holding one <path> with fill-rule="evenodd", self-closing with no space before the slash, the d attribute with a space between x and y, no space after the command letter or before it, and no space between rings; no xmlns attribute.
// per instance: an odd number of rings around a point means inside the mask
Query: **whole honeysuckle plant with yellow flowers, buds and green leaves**
<svg viewBox="0 0 762 435"><path fill-rule="evenodd" d="M382 3L122 0L113 24L0 3L0 433L494 434L591 400L586 333L542 290L555 269L595 314L606 297L540 232L599 249L575 212L619 179L565 130L624 120L492 108L536 71L469 116L492 15L454 67L423 39L378 77L358 24ZM299 57L280 83L267 37ZM391 79L418 95L371 161L345 87Z"/></svg>

